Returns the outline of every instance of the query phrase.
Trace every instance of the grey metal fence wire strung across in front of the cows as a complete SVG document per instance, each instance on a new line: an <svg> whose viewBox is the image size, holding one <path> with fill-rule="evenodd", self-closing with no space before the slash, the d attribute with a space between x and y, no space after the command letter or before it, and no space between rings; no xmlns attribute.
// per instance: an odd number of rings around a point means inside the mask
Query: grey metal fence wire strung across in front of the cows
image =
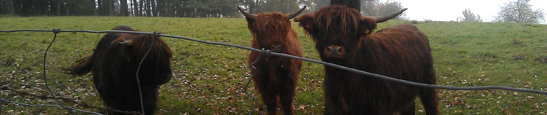
<svg viewBox="0 0 547 115"><path fill-rule="evenodd" d="M338 68L338 69L342 69L342 70L346 70L346 71L356 72L358 74L362 74L362 75L366 75L366 76L382 78L382 79L392 81L392 82L408 84L408 85L411 85L411 86L426 87L426 88L437 88L437 89L448 89L448 90L501 89L501 90L511 90L511 91L515 91L515 92L539 93L539 94L547 95L547 91L543 91L543 90L513 88L513 87L505 87L505 86L452 87L452 86L440 86L440 85L437 85L437 84L417 83L417 82L411 82L411 81L406 81L406 80L400 80L398 78L383 76L383 75L379 75L379 74L374 74L374 73L370 73L370 72L365 72L365 71L361 71L361 70L357 70L357 69L353 69L353 68L347 68L346 66L336 65L336 64L327 63L327 62L322 62L320 60L297 57L297 56L292 56L292 55L286 55L286 54L283 54L283 53L271 52L270 50L264 50L264 49L259 50L259 49L253 49L251 47L246 47L246 46L240 46L240 45L234 45L234 44L228 44L228 43L219 43L219 42L214 42L214 41L205 41L205 40L193 39L193 38L188 38L188 37L181 37L181 36L176 36L176 35L166 35L166 34L161 34L161 33L158 33L158 32L150 33L150 32L136 32L136 31L89 31L89 30L60 30L60 29L52 29L52 30L48 30L48 29L16 29L16 30L10 30L10 31L0 30L0 32L5 32L5 33L10 33L10 32L54 32L55 34L59 33L59 32L86 32L86 33L109 33L109 32L112 32L112 33L129 33L129 34L147 34L147 35L154 35L155 37L169 37L169 38L177 38L177 39L196 41L196 42L205 43L205 44L214 44L214 45L237 47L239 49L245 49L245 50L251 50L251 51L255 51L255 52L261 52L265 56L280 56L280 57L288 57L288 58L293 58L293 59L300 59L300 60L304 60L304 61L307 61L307 62L323 64L325 66L330 66L330 67L333 67L333 68ZM51 43L53 44L53 40L52 40ZM45 61L45 59L44 59L44 61ZM45 64L45 62L44 62L44 64ZM251 67L254 67L254 66L251 66ZM44 74L45 74L45 71L44 71ZM45 77L45 75L44 75L44 77ZM252 76L251 76L251 78L252 78ZM247 83L247 85L244 89L246 93L247 93L247 90L246 90L247 86L248 86L248 83ZM52 95L53 95L53 93L52 93ZM254 107L256 107L256 105L258 104L256 98L254 98L254 96L252 96L250 94L248 94L248 95L253 98L253 100L255 101L255 106ZM3 98L2 98L1 101L15 103L14 101L8 101L8 100L5 100ZM22 104L22 103L19 103L19 102L16 103L16 104L25 105L25 104ZM27 104L25 106L33 106L33 105L28 105ZM48 105L48 106L63 107L67 110L75 110L74 108L70 108L70 107L66 108L65 106L59 106L59 105ZM254 111L254 107L253 107L253 110L251 110L251 113ZM78 111L78 110L76 110L76 111ZM81 112L85 112L85 111L81 111ZM88 113L95 113L95 112L88 112Z"/></svg>

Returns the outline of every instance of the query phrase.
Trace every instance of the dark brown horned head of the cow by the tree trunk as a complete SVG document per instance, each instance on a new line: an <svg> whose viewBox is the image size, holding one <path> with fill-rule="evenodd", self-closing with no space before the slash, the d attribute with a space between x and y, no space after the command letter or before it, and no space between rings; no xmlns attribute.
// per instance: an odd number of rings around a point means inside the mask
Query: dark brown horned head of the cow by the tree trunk
<svg viewBox="0 0 547 115"><path fill-rule="evenodd" d="M322 58L345 59L360 48L360 41L376 29L376 23L385 22L403 13L373 17L341 5L330 5L310 14L294 18L311 36Z"/></svg>

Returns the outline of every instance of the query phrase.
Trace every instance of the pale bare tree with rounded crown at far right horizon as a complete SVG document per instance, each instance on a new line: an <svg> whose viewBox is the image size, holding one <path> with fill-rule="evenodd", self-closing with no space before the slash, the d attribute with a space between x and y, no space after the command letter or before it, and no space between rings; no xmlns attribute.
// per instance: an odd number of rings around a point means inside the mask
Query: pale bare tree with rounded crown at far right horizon
<svg viewBox="0 0 547 115"><path fill-rule="evenodd" d="M504 3L502 10L494 21L514 23L540 23L544 20L543 10L532 10L530 0L517 0L516 2Z"/></svg>

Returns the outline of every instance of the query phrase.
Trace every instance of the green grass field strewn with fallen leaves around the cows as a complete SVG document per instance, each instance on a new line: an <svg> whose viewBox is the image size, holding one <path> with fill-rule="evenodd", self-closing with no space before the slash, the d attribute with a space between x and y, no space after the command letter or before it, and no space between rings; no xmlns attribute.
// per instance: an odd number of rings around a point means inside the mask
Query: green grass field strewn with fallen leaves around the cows
<svg viewBox="0 0 547 115"><path fill-rule="evenodd" d="M388 21L385 28L410 21ZM416 21L415 21L416 22ZM159 31L208 41L251 46L244 19L173 17L2 17L0 30L84 29L102 31L127 25L138 31ZM297 23L304 57L319 59L313 42ZM435 59L437 83L444 86L509 86L547 90L547 25L523 23L434 22L415 24L429 37ZM53 39L51 32L0 33L0 87L42 95L43 53ZM104 34L60 33L48 52L46 74L56 95L104 107L91 76L63 74L60 69L90 55ZM253 101L242 89L251 76L245 64L249 51L219 45L162 37L173 51L173 79L162 85L159 114L247 114ZM323 65L304 62L296 89L296 114L322 114ZM252 86L252 85L251 85ZM441 90L441 114L547 114L542 94L505 90ZM253 88L249 92L257 95ZM28 104L56 105L2 90L2 98ZM259 99L260 101L260 99ZM424 114L419 101L416 113ZM101 112L91 108L81 109ZM3 114L64 114L53 107L3 104ZM264 114L259 106L256 113ZM86 113L82 113L86 114Z"/></svg>

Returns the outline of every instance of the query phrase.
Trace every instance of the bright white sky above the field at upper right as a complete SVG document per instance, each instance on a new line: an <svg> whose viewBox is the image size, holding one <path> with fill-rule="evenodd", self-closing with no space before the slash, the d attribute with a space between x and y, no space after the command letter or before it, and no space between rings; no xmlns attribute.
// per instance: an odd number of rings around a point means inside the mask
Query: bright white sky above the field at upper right
<svg viewBox="0 0 547 115"><path fill-rule="evenodd" d="M388 0L380 0L386 2ZM391 0L401 3L409 20L423 21L456 21L457 17L463 17L465 9L479 15L483 22L491 22L498 15L503 3L516 0ZM532 10L541 9L547 13L547 0L531 0ZM543 22L545 23L545 21Z"/></svg>

